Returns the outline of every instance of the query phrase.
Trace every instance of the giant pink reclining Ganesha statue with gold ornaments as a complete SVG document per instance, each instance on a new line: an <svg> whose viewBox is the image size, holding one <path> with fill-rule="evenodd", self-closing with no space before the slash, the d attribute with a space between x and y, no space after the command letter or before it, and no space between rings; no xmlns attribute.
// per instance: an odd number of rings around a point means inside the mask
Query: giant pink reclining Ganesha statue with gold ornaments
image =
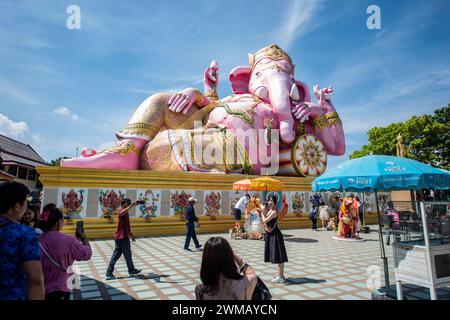
<svg viewBox="0 0 450 320"><path fill-rule="evenodd" d="M218 65L204 74L204 92L158 93L137 108L108 150L84 149L62 167L247 173L314 177L327 154L343 155L344 131L332 88L294 78L294 64L277 45L249 54L231 70L233 94L219 99Z"/></svg>

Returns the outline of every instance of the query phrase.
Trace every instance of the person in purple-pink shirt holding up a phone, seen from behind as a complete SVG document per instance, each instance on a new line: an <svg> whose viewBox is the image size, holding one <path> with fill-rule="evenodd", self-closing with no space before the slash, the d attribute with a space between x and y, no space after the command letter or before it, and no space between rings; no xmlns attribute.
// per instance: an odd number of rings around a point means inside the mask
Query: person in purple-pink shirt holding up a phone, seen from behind
<svg viewBox="0 0 450 320"><path fill-rule="evenodd" d="M69 300L75 261L91 259L92 250L85 234L80 238L61 233L64 225L63 213L56 206L46 206L39 217L38 226L44 233L39 238L41 263L45 280L46 300ZM48 209L49 208L49 209Z"/></svg>

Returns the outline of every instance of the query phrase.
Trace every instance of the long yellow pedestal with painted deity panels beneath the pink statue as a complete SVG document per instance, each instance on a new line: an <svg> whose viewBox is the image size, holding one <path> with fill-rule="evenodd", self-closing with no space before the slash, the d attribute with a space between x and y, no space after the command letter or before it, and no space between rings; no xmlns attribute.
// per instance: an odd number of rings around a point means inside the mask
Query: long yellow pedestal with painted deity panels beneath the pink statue
<svg viewBox="0 0 450 320"><path fill-rule="evenodd" d="M72 215L74 222L84 220L84 228L89 238L112 237L117 224L116 208L114 219L103 218L108 212L102 200L109 203L120 202L120 197L135 201L146 198L145 206L130 210L133 233L136 236L185 234L186 224L183 216L183 203L187 197L197 199L195 211L200 219L199 233L228 233L234 226L233 207L245 192L233 191L233 183L257 176L237 174L202 174L191 172L153 172L144 170L106 170L61 167L37 167L40 181L44 185L42 204L55 203L64 208L68 201L77 203L78 213ZM300 177L276 177L284 183L289 204L289 213L280 223L281 230L310 228L308 215L296 215L292 208L291 194L303 192L309 199L312 179ZM74 190L74 192L71 192ZM73 198L69 199L68 194ZM214 193L214 194L212 194ZM262 197L262 192L256 193ZM77 198L75 198L77 197ZM106 199L106 200L105 200ZM309 211L305 201L304 212ZM66 210L72 212L74 208ZM210 214L213 209L216 213ZM114 210L113 210L114 212ZM145 218L148 214L155 217ZM368 223L376 223L376 215L368 214ZM244 223L244 216L242 216ZM75 234L76 223L65 225L63 232Z"/></svg>

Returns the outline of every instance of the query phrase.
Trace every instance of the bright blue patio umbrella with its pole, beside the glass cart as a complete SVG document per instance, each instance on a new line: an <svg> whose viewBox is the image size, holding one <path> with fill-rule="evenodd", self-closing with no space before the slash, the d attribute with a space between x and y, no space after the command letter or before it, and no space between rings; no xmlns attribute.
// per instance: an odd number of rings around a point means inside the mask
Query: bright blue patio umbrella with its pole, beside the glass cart
<svg viewBox="0 0 450 320"><path fill-rule="evenodd" d="M450 175L444 170L408 158L369 155L345 161L312 182L312 191L375 192L381 258L385 283L389 288L389 270L384 250L377 191L449 189Z"/></svg>

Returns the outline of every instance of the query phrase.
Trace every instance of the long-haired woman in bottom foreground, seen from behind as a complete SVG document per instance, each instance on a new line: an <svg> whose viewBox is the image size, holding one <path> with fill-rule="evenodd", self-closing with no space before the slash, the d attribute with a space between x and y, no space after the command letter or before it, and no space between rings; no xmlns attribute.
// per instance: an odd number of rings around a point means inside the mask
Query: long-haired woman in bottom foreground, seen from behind
<svg viewBox="0 0 450 320"><path fill-rule="evenodd" d="M258 278L224 238L209 239L203 249L197 300L250 300Z"/></svg>

